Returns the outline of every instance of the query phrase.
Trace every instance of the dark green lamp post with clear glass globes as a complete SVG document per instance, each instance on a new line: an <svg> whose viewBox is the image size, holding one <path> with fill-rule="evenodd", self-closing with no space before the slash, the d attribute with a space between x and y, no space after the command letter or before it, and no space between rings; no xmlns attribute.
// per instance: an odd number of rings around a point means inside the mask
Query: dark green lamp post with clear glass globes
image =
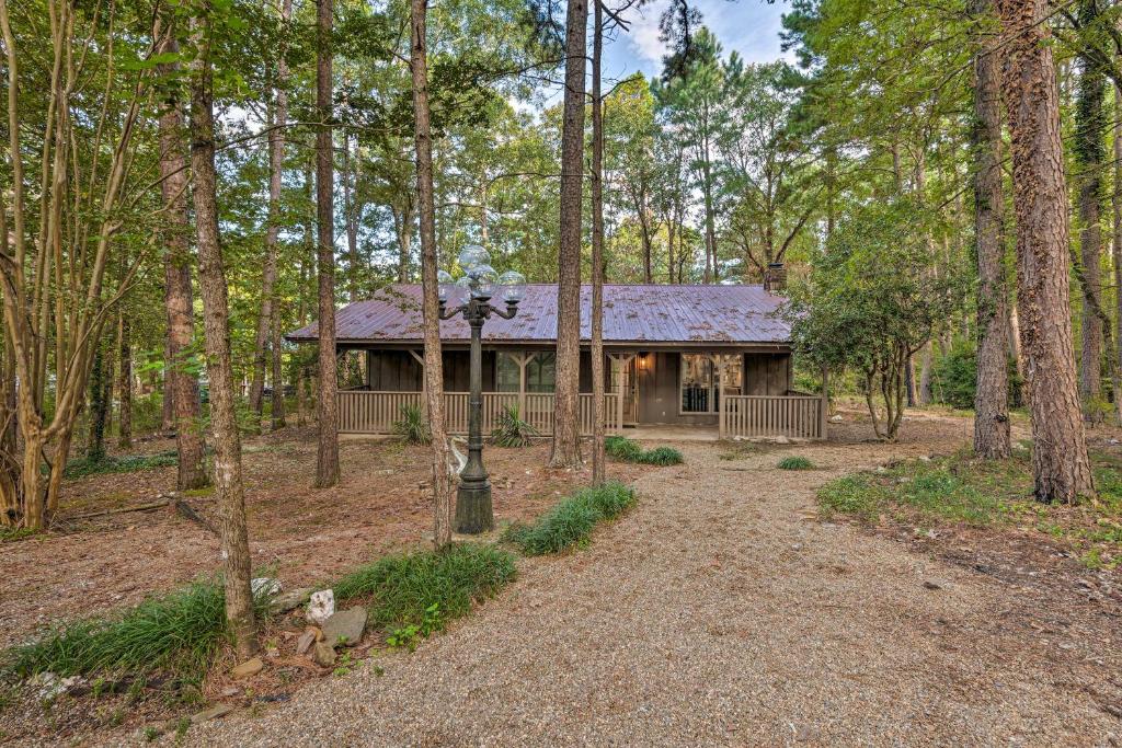
<svg viewBox="0 0 1122 748"><path fill-rule="evenodd" d="M456 496L456 532L469 535L485 533L495 527L491 509L490 480L484 467L482 435L482 330L491 314L509 320L518 311L518 302L526 293L526 279L521 273L508 270L499 276L489 265L487 250L469 244L460 252L459 262L465 275L459 280L441 270L440 318L451 320L463 315L471 325L471 366L468 395L468 462L460 472L460 488ZM490 299L498 292L506 308L493 306Z"/></svg>

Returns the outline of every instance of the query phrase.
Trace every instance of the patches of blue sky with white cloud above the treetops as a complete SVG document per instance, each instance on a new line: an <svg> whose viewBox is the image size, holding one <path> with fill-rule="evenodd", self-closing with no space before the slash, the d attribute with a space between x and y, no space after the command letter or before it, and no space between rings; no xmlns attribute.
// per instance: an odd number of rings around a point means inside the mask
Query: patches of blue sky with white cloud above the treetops
<svg viewBox="0 0 1122 748"><path fill-rule="evenodd" d="M642 11L632 11L631 30L605 44L606 80L625 77L635 71L642 71L647 77L659 74L665 54L659 41L659 17L666 4L668 0L655 0ZM726 55L735 49L749 63L785 56L780 52L779 40L780 18L788 10L783 0L774 4L765 0L696 0L695 4L705 25L720 39Z"/></svg>

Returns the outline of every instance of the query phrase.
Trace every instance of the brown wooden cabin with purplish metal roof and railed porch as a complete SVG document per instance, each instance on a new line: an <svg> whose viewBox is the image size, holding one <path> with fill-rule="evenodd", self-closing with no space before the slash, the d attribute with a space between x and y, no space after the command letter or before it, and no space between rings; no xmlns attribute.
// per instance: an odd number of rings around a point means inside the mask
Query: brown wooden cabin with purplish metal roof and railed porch
<svg viewBox="0 0 1122 748"><path fill-rule="evenodd" d="M555 284L531 284L512 320L482 329L484 432L507 406L539 432L553 428ZM715 437L822 438L822 395L792 389L784 297L764 285L605 285L606 427L674 426ZM497 304L497 302L496 302ZM591 287L581 288L580 428L592 430ZM339 393L341 434L388 434L406 405L424 407L421 286L395 284L341 308L340 354L365 355L365 381ZM286 335L316 341L312 324ZM470 327L441 323L450 433L468 424Z"/></svg>

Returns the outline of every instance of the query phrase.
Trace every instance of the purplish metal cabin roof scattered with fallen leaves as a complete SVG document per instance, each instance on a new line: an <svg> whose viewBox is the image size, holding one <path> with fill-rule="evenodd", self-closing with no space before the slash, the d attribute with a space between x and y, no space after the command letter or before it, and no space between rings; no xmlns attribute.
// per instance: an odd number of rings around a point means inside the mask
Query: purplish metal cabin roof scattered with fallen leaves
<svg viewBox="0 0 1122 748"><path fill-rule="evenodd" d="M549 343L557 339L557 284L531 284L513 320L493 316L484 342ZM590 339L592 288L581 287L580 335ZM763 286L604 286L604 341L627 343L785 344L791 326L775 312L783 304ZM441 340L467 341L462 317L441 322ZM316 324L288 333L295 342L316 340ZM335 315L339 343L420 341L421 286L395 284Z"/></svg>

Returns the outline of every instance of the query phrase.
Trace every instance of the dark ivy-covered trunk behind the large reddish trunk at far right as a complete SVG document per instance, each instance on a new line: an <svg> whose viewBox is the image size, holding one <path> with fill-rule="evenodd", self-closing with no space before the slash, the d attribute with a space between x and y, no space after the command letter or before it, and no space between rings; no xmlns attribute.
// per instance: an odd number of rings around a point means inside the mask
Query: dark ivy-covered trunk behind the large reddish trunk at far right
<svg viewBox="0 0 1122 748"><path fill-rule="evenodd" d="M1094 26L1098 0L1080 0L1079 21ZM1095 314L1102 297L1100 262L1103 251L1103 163L1106 160L1104 135L1106 118L1106 76L1092 54L1079 55L1079 85L1075 104L1075 163L1079 209L1079 253L1083 266L1083 314L1080 315L1083 353L1079 357L1079 393L1084 399L1098 397L1102 389L1103 324Z"/></svg>

